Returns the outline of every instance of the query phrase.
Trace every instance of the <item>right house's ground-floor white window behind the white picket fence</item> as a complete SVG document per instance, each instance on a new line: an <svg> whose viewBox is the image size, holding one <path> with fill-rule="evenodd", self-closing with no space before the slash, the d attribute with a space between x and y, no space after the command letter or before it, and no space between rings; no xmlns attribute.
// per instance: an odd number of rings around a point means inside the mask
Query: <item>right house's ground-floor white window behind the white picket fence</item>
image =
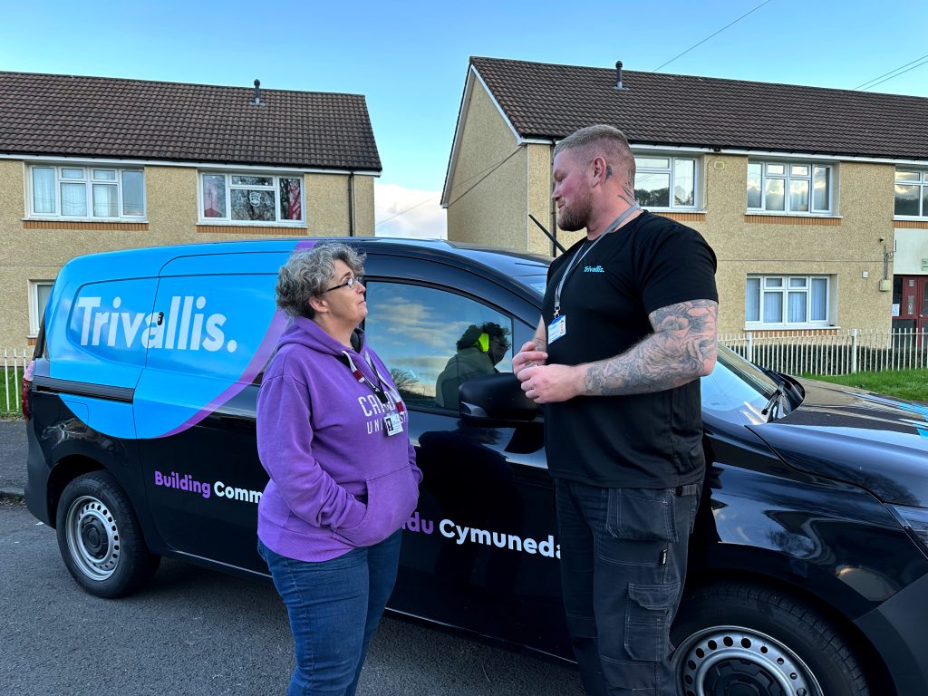
<svg viewBox="0 0 928 696"><path fill-rule="evenodd" d="M831 326L830 276L748 276L744 323L748 327Z"/></svg>

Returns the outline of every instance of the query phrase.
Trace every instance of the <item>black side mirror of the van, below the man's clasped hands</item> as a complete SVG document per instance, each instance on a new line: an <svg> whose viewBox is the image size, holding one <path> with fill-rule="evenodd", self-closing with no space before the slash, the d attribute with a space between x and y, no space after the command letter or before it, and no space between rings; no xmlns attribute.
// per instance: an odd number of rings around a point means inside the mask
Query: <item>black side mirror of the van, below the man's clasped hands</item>
<svg viewBox="0 0 928 696"><path fill-rule="evenodd" d="M541 408L522 392L522 384L510 372L467 380L458 396L461 420L469 425L506 427L530 423L541 415Z"/></svg>

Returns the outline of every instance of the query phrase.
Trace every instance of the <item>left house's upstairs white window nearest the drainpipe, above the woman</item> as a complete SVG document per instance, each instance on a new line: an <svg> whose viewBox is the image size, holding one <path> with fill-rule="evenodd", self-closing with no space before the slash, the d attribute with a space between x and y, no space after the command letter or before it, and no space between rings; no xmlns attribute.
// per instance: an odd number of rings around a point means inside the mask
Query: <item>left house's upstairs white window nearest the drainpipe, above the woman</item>
<svg viewBox="0 0 928 696"><path fill-rule="evenodd" d="M303 176L201 172L200 221L303 225Z"/></svg>

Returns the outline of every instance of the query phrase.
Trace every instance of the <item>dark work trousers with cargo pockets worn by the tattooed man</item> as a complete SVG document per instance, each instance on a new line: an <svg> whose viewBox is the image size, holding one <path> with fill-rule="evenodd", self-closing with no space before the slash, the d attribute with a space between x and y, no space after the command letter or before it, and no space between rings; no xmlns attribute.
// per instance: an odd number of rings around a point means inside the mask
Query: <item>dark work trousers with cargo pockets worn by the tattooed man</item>
<svg viewBox="0 0 928 696"><path fill-rule="evenodd" d="M700 486L599 488L555 479L561 586L590 696L677 696L670 625Z"/></svg>

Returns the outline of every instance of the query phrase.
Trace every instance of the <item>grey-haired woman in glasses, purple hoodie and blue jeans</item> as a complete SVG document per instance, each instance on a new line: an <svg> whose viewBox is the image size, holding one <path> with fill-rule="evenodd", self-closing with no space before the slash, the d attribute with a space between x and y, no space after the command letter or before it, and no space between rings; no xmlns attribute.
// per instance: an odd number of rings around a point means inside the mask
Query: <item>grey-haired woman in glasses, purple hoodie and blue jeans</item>
<svg viewBox="0 0 928 696"><path fill-rule="evenodd" d="M363 262L348 245L317 244L277 278L277 306L293 320L258 394L270 476L258 552L290 614L288 696L354 695L419 498L406 406L357 330Z"/></svg>

